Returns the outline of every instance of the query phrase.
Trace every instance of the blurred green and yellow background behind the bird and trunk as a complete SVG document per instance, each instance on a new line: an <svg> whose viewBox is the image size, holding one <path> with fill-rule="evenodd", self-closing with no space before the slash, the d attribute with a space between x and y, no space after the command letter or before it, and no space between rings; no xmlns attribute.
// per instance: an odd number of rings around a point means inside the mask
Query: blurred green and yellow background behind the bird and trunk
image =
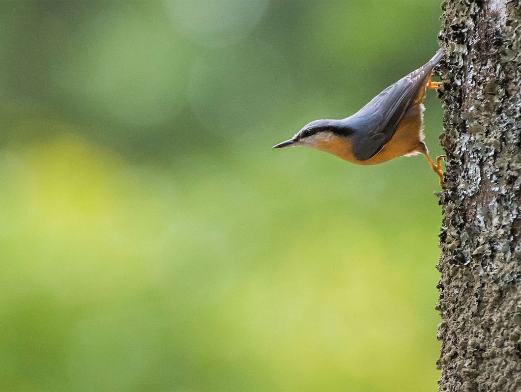
<svg viewBox="0 0 521 392"><path fill-rule="evenodd" d="M0 389L436 390L436 174L270 147L423 65L440 13L1 3Z"/></svg>

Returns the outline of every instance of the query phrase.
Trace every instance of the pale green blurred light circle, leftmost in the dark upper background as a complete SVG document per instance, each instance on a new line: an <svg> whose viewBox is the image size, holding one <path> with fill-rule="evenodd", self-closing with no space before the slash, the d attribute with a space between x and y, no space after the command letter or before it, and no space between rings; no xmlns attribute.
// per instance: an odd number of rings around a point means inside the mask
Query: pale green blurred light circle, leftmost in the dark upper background
<svg viewBox="0 0 521 392"><path fill-rule="evenodd" d="M190 55L167 23L148 23L127 10L101 16L84 29L80 47L56 75L72 104L101 103L135 127L165 123L181 111ZM91 30L94 36L86 34Z"/></svg>

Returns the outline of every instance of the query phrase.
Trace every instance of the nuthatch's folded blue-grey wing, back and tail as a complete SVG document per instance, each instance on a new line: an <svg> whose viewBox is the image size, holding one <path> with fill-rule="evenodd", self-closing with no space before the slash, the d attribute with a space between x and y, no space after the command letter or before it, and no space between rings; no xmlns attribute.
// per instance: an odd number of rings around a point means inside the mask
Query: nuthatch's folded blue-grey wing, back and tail
<svg viewBox="0 0 521 392"><path fill-rule="evenodd" d="M440 49L423 67L390 85L346 119L349 127L355 131L352 149L358 160L368 160L391 140L403 115L420 89L425 88L432 68L438 64L442 56L443 52Z"/></svg>

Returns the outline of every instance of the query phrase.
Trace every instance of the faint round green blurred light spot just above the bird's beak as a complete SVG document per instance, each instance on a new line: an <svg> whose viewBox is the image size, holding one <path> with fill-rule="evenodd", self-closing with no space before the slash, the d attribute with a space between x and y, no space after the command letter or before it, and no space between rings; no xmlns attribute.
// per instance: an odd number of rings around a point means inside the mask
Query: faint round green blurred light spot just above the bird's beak
<svg viewBox="0 0 521 392"><path fill-rule="evenodd" d="M208 131L237 138L247 129L278 123L292 96L292 81L284 55L257 43L215 51L197 60L189 100Z"/></svg>

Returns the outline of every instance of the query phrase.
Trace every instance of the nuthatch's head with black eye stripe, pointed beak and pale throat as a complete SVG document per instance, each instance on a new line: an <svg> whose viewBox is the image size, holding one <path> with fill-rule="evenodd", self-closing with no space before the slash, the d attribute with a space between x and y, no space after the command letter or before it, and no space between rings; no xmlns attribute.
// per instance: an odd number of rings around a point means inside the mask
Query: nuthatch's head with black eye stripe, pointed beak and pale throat
<svg viewBox="0 0 521 392"><path fill-rule="evenodd" d="M306 145L315 150L331 152L344 143L349 129L343 126L342 120L315 120L303 127L291 139L274 145L280 149L292 145Z"/></svg>

